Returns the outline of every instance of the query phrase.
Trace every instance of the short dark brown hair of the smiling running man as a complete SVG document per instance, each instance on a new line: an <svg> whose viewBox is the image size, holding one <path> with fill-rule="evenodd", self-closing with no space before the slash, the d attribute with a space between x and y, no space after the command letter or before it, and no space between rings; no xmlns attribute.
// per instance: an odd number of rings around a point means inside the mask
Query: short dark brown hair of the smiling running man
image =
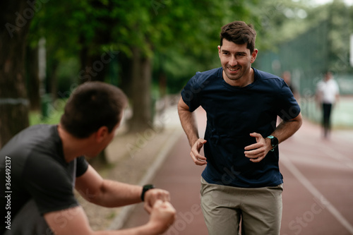
<svg viewBox="0 0 353 235"><path fill-rule="evenodd" d="M255 49L256 31L253 25L247 25L244 21L234 21L222 26L220 32L220 46L223 39L235 44L247 44L247 49L252 53Z"/></svg>

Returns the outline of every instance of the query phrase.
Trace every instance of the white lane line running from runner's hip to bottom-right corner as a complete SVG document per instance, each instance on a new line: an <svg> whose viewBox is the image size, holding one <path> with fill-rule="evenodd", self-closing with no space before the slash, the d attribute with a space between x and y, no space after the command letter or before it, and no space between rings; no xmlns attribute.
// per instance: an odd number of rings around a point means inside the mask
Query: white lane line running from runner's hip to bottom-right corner
<svg viewBox="0 0 353 235"><path fill-rule="evenodd" d="M282 164L285 165L285 167L291 171L291 173L296 177L301 184L318 200L321 200L321 202L325 202L325 206L327 209L331 212L331 214L337 219L338 222L342 224L343 227L345 227L351 234L353 234L353 226L350 224L345 217L341 215L341 213L330 203L330 201L325 198L325 196L316 189L312 183L306 177L301 174L299 169L292 164L292 162L289 160L288 157L285 155L281 154L281 162Z"/></svg>

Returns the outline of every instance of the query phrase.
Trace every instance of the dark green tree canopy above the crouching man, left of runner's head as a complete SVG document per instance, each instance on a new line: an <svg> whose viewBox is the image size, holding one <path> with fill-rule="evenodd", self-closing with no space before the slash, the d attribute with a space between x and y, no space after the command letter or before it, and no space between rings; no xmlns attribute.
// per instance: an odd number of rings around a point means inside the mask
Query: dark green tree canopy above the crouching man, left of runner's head
<svg viewBox="0 0 353 235"><path fill-rule="evenodd" d="M143 56L162 55L165 60L157 61L160 64L155 67L166 70L168 80L179 82L195 71L215 66L220 27L233 20L253 20L251 8L256 3L255 0L47 1L41 3L33 19L29 40L35 46L40 37L46 38L48 63L60 64L59 84L77 77L78 71L66 61L78 57L83 49L88 54L102 54L109 48L132 56L132 47L138 47ZM61 70L62 66L68 66L66 72Z"/></svg>

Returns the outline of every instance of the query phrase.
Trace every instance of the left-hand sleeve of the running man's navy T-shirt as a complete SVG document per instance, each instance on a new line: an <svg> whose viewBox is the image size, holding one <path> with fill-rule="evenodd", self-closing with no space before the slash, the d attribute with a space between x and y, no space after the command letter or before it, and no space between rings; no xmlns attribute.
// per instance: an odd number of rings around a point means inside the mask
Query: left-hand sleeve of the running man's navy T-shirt
<svg viewBox="0 0 353 235"><path fill-rule="evenodd" d="M201 85L198 83L198 74L196 73L188 83L186 83L183 90L181 90L181 98L185 104L189 106L190 112L193 112L201 105Z"/></svg>

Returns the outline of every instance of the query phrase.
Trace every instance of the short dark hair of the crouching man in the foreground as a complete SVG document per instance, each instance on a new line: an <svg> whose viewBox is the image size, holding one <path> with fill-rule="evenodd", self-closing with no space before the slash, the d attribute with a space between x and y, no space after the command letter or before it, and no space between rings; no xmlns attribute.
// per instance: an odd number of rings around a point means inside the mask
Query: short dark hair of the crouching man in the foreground
<svg viewBox="0 0 353 235"><path fill-rule="evenodd" d="M102 82L79 85L66 103L61 126L76 138L87 138L100 127L111 132L128 103L123 91Z"/></svg>

